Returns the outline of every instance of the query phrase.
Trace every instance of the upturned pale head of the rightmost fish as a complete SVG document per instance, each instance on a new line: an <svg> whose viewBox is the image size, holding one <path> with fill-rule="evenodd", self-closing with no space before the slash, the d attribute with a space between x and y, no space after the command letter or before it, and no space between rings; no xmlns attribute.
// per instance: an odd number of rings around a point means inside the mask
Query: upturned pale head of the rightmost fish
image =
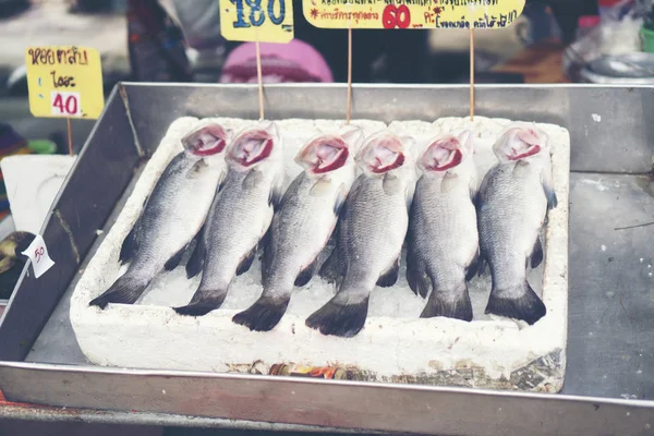
<svg viewBox="0 0 654 436"><path fill-rule="evenodd" d="M512 124L493 146L500 162L524 160L549 148L549 137L531 124Z"/></svg>

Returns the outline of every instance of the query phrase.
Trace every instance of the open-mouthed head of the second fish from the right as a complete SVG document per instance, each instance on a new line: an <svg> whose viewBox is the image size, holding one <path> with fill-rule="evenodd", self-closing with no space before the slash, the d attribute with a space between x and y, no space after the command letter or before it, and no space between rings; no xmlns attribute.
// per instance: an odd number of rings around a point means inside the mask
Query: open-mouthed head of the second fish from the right
<svg viewBox="0 0 654 436"><path fill-rule="evenodd" d="M472 131L463 130L429 141L417 166L425 172L437 173L445 173L457 168L464 159L473 155L472 137Z"/></svg>

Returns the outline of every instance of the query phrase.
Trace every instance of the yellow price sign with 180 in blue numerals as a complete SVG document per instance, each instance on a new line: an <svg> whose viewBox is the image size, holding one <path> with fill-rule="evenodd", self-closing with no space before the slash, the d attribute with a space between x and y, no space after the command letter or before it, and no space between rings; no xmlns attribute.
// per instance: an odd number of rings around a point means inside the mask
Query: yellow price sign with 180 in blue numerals
<svg viewBox="0 0 654 436"><path fill-rule="evenodd" d="M293 39L293 0L219 1L226 39L283 44Z"/></svg>

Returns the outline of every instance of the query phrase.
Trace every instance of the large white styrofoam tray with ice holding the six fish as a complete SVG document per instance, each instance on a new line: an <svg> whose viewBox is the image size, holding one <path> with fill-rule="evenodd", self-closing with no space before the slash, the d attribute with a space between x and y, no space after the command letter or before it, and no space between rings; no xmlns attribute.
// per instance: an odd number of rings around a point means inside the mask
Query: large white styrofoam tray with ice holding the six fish
<svg viewBox="0 0 654 436"><path fill-rule="evenodd" d="M332 286L317 277L293 293L287 314L271 331L252 332L233 324L231 317L261 294L258 261L233 281L222 307L203 317L182 317L170 308L187 303L199 280L186 280L181 267L160 275L135 305L110 304L104 311L89 307L88 302L116 279L122 240L158 174L179 149L179 138L197 122L180 119L170 126L73 292L71 322L90 362L214 372L247 371L254 362L267 367L275 363L336 365L355 368L362 372L360 377L370 380L560 389L567 341L570 140L567 130L552 124L538 126L552 138L553 180L559 206L549 214L546 261L530 275L534 290L542 292L547 306L547 315L534 326L484 315L491 289L487 276L470 284L472 323L420 319L425 301L409 289L404 265L395 287L373 292L365 328L350 339L326 337L304 325L305 318L335 293ZM475 118L481 140L475 147L488 147L507 122ZM300 138L315 133L322 123L280 122L282 141L289 147L299 147ZM434 129L445 132L459 129L462 123L463 119L438 120ZM377 125L372 124L371 129ZM431 133L432 128L421 125ZM292 153L286 155L287 159L289 155ZM292 164L287 161L287 168L292 168Z"/></svg>

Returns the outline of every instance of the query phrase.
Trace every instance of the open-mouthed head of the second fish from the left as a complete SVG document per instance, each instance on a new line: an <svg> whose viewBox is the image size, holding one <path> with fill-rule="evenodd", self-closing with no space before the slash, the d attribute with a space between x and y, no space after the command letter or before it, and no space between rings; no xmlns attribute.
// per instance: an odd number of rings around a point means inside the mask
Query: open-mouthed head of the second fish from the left
<svg viewBox="0 0 654 436"><path fill-rule="evenodd" d="M276 154L279 136L275 123L266 128L249 129L230 145L226 160L237 167L252 168Z"/></svg>

